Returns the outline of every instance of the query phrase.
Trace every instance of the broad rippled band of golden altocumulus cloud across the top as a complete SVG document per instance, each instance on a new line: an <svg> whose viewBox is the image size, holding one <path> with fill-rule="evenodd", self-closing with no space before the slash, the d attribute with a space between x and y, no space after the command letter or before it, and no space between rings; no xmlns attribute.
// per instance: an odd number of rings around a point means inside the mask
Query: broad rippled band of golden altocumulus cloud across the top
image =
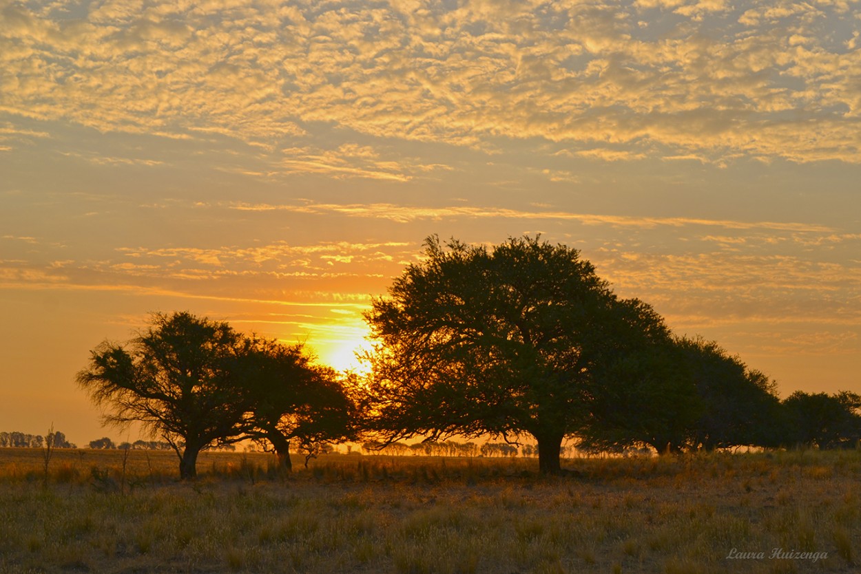
<svg viewBox="0 0 861 574"><path fill-rule="evenodd" d="M861 161L858 0L0 7L0 114L288 141L291 172L409 177L313 151L317 122L477 149L539 138L615 161Z"/></svg>

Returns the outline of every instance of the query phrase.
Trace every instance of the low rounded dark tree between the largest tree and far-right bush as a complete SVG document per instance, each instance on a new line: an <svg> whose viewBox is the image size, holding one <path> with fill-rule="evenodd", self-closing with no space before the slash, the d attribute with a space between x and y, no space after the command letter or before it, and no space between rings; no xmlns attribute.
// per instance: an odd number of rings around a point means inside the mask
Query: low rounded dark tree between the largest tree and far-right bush
<svg viewBox="0 0 861 574"><path fill-rule="evenodd" d="M598 369L592 418L580 433L584 450L646 444L666 454L777 445L774 382L717 343L666 339L606 365Z"/></svg>

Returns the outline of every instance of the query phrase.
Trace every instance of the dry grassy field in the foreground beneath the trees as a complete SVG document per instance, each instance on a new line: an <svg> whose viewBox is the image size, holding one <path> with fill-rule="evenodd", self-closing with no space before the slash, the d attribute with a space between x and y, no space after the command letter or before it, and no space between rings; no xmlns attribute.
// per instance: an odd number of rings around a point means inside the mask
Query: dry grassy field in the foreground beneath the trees
<svg viewBox="0 0 861 574"><path fill-rule="evenodd" d="M0 572L854 572L861 452L566 460L0 450Z"/></svg>

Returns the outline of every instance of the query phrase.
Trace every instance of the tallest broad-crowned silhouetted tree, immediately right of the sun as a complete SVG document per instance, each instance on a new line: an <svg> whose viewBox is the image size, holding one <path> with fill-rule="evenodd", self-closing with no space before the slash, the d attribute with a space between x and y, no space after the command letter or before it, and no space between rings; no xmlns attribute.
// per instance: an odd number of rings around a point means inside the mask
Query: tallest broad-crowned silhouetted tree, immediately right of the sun
<svg viewBox="0 0 861 574"><path fill-rule="evenodd" d="M524 237L488 250L431 237L425 248L366 314L371 429L387 441L531 435L541 471L559 472L593 373L666 339L666 327L565 245Z"/></svg>

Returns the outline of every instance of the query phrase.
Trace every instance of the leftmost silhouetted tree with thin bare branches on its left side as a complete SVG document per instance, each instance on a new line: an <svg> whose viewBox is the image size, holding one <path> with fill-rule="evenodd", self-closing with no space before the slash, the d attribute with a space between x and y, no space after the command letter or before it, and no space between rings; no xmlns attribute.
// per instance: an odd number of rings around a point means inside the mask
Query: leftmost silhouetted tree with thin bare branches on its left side
<svg viewBox="0 0 861 574"><path fill-rule="evenodd" d="M102 343L77 382L104 410L104 422L142 423L168 441L180 477L195 478L201 450L245 433L237 361L247 342L226 323L189 312L156 313L126 345Z"/></svg>

